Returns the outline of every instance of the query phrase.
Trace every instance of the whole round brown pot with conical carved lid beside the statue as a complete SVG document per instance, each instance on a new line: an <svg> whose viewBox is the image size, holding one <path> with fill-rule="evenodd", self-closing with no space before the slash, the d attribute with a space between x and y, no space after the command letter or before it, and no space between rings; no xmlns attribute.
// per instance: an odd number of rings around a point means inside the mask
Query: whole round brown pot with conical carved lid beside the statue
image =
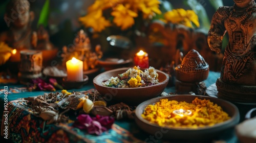
<svg viewBox="0 0 256 143"><path fill-rule="evenodd" d="M175 67L176 79L186 83L202 82L207 79L209 65L196 51L190 50L183 58L181 64Z"/></svg>

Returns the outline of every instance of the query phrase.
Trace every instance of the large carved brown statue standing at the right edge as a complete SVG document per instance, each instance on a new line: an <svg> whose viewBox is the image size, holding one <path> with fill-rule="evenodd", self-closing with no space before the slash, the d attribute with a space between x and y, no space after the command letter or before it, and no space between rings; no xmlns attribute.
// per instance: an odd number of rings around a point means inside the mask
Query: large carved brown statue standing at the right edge
<svg viewBox="0 0 256 143"><path fill-rule="evenodd" d="M233 102L256 103L256 4L254 0L234 0L231 7L220 7L212 17L208 44L221 52L227 32L218 97Z"/></svg>

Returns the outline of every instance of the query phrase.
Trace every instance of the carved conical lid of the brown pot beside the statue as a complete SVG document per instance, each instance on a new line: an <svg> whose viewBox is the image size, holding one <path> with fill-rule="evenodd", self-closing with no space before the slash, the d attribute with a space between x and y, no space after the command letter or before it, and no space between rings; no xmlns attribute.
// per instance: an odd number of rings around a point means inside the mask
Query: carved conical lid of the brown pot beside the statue
<svg viewBox="0 0 256 143"><path fill-rule="evenodd" d="M182 63L178 65L175 70L181 71L182 73L197 73L209 70L209 65L205 62L204 58L193 49L187 53Z"/></svg>

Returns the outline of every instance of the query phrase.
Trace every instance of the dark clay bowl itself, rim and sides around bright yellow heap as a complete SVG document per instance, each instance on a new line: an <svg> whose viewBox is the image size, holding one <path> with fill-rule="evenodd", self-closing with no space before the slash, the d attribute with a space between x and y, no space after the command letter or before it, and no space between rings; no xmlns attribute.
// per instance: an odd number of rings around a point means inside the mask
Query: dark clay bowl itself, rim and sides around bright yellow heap
<svg viewBox="0 0 256 143"><path fill-rule="evenodd" d="M211 102L218 104L222 107L222 109L228 113L231 117L229 120L216 124L214 126L206 126L197 129L191 128L170 128L170 127L160 127L157 124L153 124L142 118L141 114L143 113L145 107L150 104L155 104L159 102L160 99L168 99L168 100L176 100L176 101L185 101L187 103L191 103L196 97L198 99L206 99ZM239 123L240 115L239 110L232 103L221 100L218 98L205 97L205 96L193 96L193 95L175 95L175 96L167 96L167 97L158 97L148 101L145 101L139 104L135 111L135 122L137 125L144 130L145 132L151 135L162 135L164 139L173 139L173 140L186 140L190 141L198 141L198 140L208 140L213 139L217 135L221 134L222 131L233 128L235 125Z"/></svg>

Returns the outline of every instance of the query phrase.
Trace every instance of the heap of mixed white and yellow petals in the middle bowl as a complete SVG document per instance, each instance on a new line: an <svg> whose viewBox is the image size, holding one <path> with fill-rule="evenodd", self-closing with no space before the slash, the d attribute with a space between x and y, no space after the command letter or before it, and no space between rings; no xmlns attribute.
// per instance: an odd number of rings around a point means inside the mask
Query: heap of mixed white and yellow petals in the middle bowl
<svg viewBox="0 0 256 143"><path fill-rule="evenodd" d="M154 67L149 67L144 71L140 67L134 66L129 68L125 73L118 77L111 77L107 81L103 81L102 85L117 88L133 88L155 85L158 83L158 74Z"/></svg>

